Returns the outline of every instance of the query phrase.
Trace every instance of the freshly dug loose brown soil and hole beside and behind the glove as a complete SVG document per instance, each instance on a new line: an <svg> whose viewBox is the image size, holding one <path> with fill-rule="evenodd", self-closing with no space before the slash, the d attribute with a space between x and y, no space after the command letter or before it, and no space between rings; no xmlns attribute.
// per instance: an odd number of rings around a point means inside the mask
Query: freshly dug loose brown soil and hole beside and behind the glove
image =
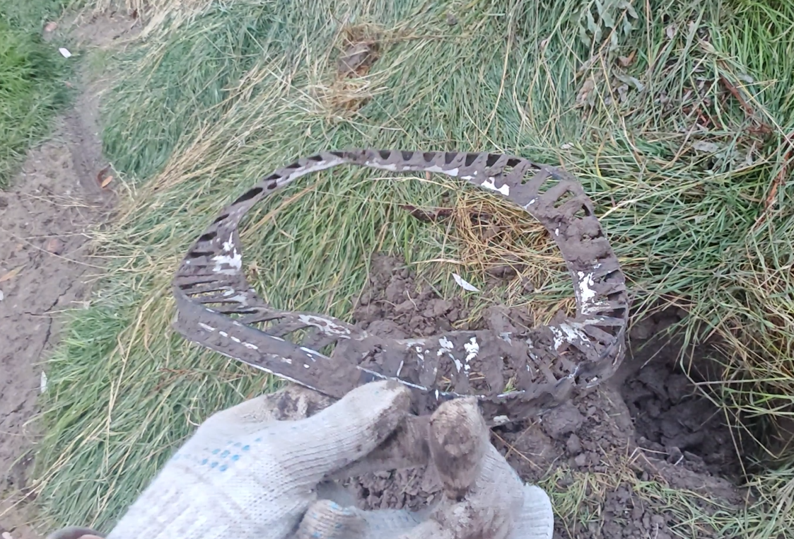
<svg viewBox="0 0 794 539"><path fill-rule="evenodd" d="M504 308L491 308L478 324L493 326L505 316L513 325L531 324L520 310ZM418 284L402 260L383 256L372 260L368 288L354 317L364 329L391 337L476 329L461 322L468 312L460 298L440 298L429 286ZM496 427L492 443L532 483L563 471L557 487L565 490L565 482L580 472L612 477L626 473L666 488L699 492L726 506L741 506L745 493L732 480L738 475L738 461L721 416L683 374L675 372L674 349L642 342L643 351L630 353L611 383L540 418ZM437 479L422 469L365 475L349 486L367 509L416 510L439 495ZM556 537L663 539L671 537L671 528L679 523L664 502L641 499L630 483L608 489L602 511L599 526L564 529L558 523ZM718 536L704 531L702 537Z"/></svg>

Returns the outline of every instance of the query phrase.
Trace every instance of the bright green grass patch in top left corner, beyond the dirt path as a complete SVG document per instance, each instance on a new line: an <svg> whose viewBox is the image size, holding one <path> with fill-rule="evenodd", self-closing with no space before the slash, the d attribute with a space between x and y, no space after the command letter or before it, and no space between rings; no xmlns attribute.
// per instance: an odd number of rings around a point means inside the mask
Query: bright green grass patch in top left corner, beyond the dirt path
<svg viewBox="0 0 794 539"><path fill-rule="evenodd" d="M44 21L60 7L0 2L0 188L8 187L25 152L49 133L68 102L69 62L56 43L40 37Z"/></svg>

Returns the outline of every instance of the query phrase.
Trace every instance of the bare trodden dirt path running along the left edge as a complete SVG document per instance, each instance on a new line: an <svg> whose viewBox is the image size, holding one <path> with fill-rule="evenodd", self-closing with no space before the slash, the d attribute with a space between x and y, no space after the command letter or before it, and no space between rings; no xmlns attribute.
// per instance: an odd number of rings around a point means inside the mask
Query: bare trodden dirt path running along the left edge
<svg viewBox="0 0 794 539"><path fill-rule="evenodd" d="M134 21L120 14L79 17L61 29L87 50L113 44ZM64 60L67 61L67 60ZM29 464L37 442L37 398L46 387L44 362L60 335L59 314L87 306L101 274L91 260L89 232L114 204L100 187L106 167L99 141L100 81L83 77L74 107L55 133L29 152L8 191L0 191L0 533L38 537L25 506Z"/></svg>

